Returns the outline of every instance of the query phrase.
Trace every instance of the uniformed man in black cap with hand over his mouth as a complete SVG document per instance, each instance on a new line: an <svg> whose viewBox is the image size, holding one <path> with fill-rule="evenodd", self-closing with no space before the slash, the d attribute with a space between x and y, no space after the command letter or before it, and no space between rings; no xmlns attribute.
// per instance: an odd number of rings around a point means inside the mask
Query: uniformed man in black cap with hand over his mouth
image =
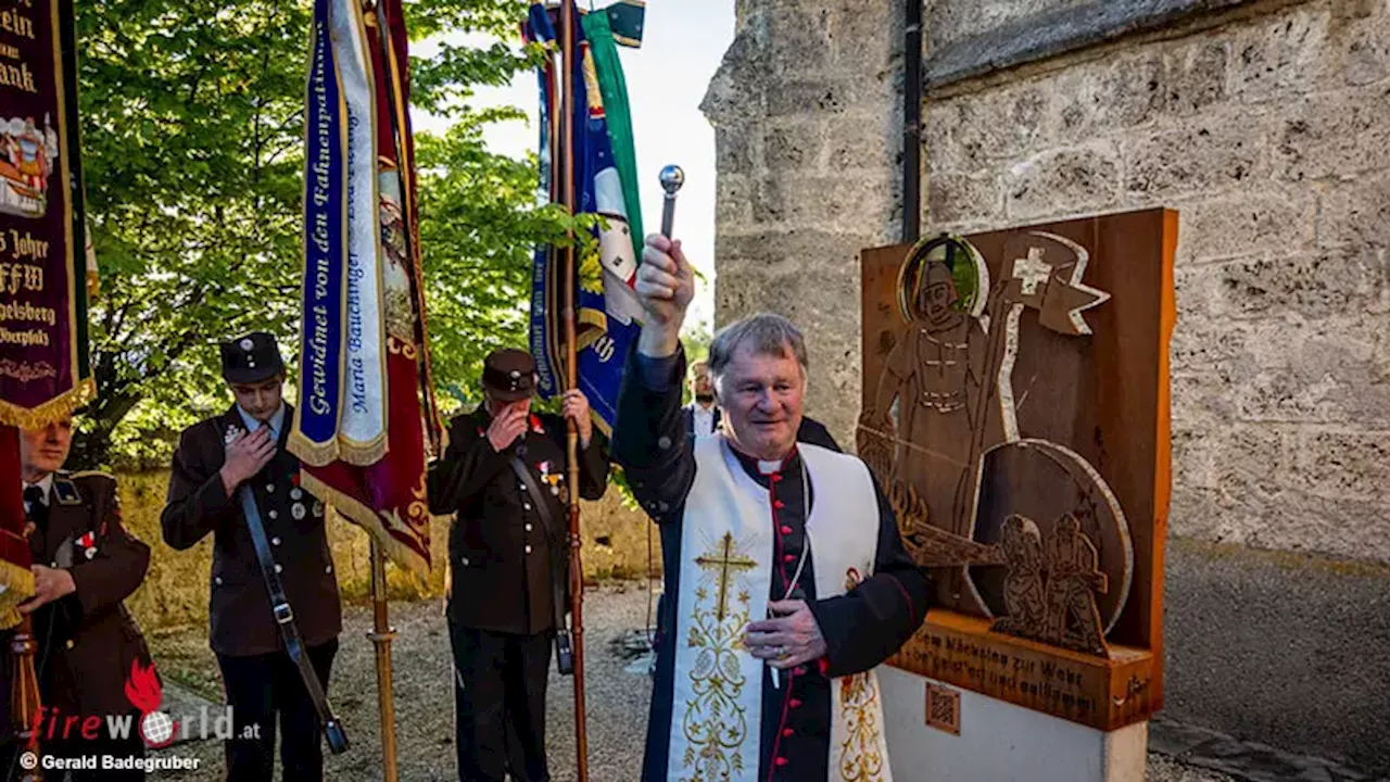
<svg viewBox="0 0 1390 782"><path fill-rule="evenodd" d="M292 621L327 692L342 604L324 506L299 487L299 459L285 448L295 409L281 398L285 365L275 338L247 334L224 344L221 358L236 402L179 437L161 516L164 541L183 550L213 534L210 641L234 714L227 778L272 778L278 721L284 779L320 781L318 715L272 616L239 488L254 497Z"/></svg>

